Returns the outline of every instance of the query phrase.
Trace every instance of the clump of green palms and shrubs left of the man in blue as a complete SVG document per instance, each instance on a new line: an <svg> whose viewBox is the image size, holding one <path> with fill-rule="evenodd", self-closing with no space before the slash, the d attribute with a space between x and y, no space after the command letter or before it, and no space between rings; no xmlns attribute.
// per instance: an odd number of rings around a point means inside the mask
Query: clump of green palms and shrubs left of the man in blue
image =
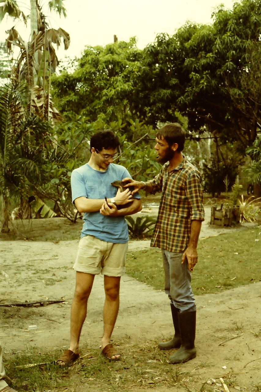
<svg viewBox="0 0 261 392"><path fill-rule="evenodd" d="M15 207L30 211L51 200L62 216L74 221L68 171L77 165L77 143L69 152L60 145L51 124L24 109L24 85L0 87L0 198L2 232L9 232ZM54 138L54 135L56 136ZM56 142L56 144L55 144ZM45 207L47 209L47 207Z"/></svg>

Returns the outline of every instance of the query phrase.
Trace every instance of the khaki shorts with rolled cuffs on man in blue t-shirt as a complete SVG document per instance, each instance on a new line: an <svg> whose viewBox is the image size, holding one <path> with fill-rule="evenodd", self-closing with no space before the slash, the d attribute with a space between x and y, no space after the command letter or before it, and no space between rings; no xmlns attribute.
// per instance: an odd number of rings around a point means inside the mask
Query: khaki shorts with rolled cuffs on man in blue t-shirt
<svg viewBox="0 0 261 392"><path fill-rule="evenodd" d="M73 269L78 272L107 276L125 274L125 260L128 243L119 244L101 241L94 236L80 239Z"/></svg>

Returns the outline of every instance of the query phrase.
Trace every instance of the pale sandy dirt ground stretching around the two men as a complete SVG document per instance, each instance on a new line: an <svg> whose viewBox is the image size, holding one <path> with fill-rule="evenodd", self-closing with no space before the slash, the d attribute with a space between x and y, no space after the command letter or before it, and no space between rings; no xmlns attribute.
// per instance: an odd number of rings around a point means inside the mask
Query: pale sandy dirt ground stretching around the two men
<svg viewBox="0 0 261 392"><path fill-rule="evenodd" d="M210 226L209 218L210 207L207 207L201 241L231 230L244 230L247 226L240 229ZM79 234L80 227L79 224ZM63 301L45 307L1 306L0 340L5 352L18 352L29 346L67 347L75 279L72 264L78 240L63 241L56 237L70 228L69 221L63 218L37 220L31 232L33 241L6 240L6 236L0 236L0 305L46 299ZM56 233L53 241L41 240L41 233L43 235L45 230ZM149 241L129 243L130 252L145 247L149 247ZM226 391L219 377L233 381L228 387L229 392L261 390L260 297L261 283L197 296L195 343L198 354L183 365L184 370L197 372L202 379L208 379L213 391ZM103 300L103 278L97 276L82 330L82 354L100 345ZM36 325L36 329L28 330L30 325ZM169 338L172 329L165 293L130 276L123 276L120 312L113 340L122 341L128 336L132 343L148 339L157 341ZM153 390L166 392L170 389Z"/></svg>

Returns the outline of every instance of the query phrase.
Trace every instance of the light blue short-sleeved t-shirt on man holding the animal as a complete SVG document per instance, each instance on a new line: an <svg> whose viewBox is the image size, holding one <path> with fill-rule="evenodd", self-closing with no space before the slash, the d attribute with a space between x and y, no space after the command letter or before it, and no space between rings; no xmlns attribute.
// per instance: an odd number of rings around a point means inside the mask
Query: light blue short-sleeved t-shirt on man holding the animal
<svg viewBox="0 0 261 392"><path fill-rule="evenodd" d="M81 196L88 199L113 198L117 188L111 182L121 181L125 177L130 177L127 169L115 163L111 163L105 172L94 170L86 163L72 171L72 201ZM138 194L134 197L140 199ZM128 242L127 221L124 216L103 216L100 211L84 212L81 238L87 235L111 243Z"/></svg>

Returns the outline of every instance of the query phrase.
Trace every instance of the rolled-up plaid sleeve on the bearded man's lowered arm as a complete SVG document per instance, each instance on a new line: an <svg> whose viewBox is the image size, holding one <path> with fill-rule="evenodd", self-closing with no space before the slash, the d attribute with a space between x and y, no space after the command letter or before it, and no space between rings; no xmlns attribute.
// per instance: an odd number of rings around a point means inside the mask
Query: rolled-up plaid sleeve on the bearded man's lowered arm
<svg viewBox="0 0 261 392"><path fill-rule="evenodd" d="M190 172L186 182L186 195L190 209L190 220L205 220L203 207L203 192L201 187L201 176L196 172Z"/></svg>

